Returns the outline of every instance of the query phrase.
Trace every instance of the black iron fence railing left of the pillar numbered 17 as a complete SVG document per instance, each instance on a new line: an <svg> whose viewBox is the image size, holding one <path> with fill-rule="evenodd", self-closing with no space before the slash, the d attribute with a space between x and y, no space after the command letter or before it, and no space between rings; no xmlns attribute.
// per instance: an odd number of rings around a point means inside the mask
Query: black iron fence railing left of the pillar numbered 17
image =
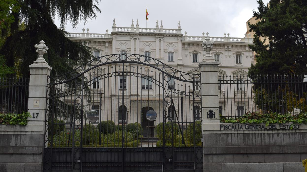
<svg viewBox="0 0 307 172"><path fill-rule="evenodd" d="M29 78L0 78L0 113L28 111Z"/></svg>

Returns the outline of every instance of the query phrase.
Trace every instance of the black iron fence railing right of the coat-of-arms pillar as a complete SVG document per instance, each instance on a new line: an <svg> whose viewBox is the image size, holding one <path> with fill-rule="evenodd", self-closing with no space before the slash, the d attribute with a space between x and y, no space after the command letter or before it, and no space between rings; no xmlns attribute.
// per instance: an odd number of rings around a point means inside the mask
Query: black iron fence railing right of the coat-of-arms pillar
<svg viewBox="0 0 307 172"><path fill-rule="evenodd" d="M292 115L307 111L304 75L218 77L220 114L225 117L235 118L248 111Z"/></svg>

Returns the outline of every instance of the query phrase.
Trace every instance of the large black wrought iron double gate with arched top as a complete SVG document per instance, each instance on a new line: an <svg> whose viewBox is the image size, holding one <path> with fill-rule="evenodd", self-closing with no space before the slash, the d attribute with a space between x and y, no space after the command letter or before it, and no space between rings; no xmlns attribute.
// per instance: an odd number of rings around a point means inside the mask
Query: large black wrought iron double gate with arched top
<svg viewBox="0 0 307 172"><path fill-rule="evenodd" d="M200 74L113 54L47 84L44 171L202 171Z"/></svg>

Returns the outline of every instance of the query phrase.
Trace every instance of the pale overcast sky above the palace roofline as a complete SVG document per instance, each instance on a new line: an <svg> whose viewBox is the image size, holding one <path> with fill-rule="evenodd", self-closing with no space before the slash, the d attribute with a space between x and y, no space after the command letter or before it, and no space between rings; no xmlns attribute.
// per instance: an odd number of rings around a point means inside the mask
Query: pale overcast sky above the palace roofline
<svg viewBox="0 0 307 172"><path fill-rule="evenodd" d="M263 0L267 3L269 0ZM244 37L246 22L252 17L252 11L257 10L256 0L113 0L99 2L101 14L89 20L85 29L90 33L109 33L112 30L113 18L116 26L131 27L131 20L139 20L139 27L146 27L147 6L148 28L155 28L156 20L163 21L163 27L176 29L181 22L182 33L188 36L202 36L202 32L209 32L209 36L223 37L229 32L231 37ZM56 19L56 25L60 22ZM70 23L65 27L68 32L82 32L84 21L76 29Z"/></svg>

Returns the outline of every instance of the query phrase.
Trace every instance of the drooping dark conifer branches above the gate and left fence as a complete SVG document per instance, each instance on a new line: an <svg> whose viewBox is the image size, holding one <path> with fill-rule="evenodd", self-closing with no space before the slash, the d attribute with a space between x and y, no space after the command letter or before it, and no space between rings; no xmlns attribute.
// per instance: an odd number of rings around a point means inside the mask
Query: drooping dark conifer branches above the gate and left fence
<svg viewBox="0 0 307 172"><path fill-rule="evenodd" d="M29 75L28 65L37 59L34 45L41 40L49 47L44 58L53 68L53 76L69 72L76 64L91 59L91 49L83 42L69 40L63 28L68 21L76 28L81 20L86 22L95 18L95 10L101 12L97 7L98 0L21 0L9 4L5 16L10 16L10 20L7 20L10 25L6 28L10 34L2 32L5 41L0 46L0 54L6 57L8 67L16 66L15 70L20 71L22 76ZM12 10L15 6L18 9ZM53 22L56 16L60 19L60 28Z"/></svg>

